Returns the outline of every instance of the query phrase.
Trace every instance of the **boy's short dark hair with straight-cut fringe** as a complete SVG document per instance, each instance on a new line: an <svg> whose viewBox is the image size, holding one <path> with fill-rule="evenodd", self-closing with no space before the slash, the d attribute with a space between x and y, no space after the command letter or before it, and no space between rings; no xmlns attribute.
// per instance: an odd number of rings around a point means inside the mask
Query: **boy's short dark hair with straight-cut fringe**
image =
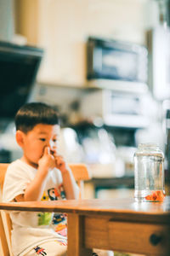
<svg viewBox="0 0 170 256"><path fill-rule="evenodd" d="M16 131L31 131L35 125L59 125L57 111L42 102L31 102L23 105L15 115Z"/></svg>

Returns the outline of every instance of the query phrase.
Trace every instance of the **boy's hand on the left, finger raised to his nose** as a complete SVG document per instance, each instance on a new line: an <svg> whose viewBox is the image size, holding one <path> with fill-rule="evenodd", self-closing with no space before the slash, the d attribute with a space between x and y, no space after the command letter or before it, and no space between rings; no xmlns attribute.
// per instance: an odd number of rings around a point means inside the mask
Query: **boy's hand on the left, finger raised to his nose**
<svg viewBox="0 0 170 256"><path fill-rule="evenodd" d="M54 155L50 154L50 150L48 147L44 149L42 158L38 161L38 169L42 170L44 174L48 174L48 171L54 169L55 167L55 159Z"/></svg>

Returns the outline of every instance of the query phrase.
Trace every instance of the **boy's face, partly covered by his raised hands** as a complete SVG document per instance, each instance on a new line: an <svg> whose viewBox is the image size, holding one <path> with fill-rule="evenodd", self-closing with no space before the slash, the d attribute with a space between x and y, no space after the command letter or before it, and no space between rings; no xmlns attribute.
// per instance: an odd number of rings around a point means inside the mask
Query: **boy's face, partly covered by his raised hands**
<svg viewBox="0 0 170 256"><path fill-rule="evenodd" d="M38 160L42 158L44 148L49 147L50 153L56 152L59 139L59 125L34 126L31 131L23 133L23 158L31 166L36 166Z"/></svg>

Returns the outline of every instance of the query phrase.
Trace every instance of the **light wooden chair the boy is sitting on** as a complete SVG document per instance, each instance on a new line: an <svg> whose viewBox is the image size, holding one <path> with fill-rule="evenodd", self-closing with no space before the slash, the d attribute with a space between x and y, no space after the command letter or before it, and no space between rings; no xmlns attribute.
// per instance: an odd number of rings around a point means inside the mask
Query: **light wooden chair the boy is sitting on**
<svg viewBox="0 0 170 256"><path fill-rule="evenodd" d="M83 197L83 182L91 178L90 172L84 164L70 164L71 172L80 188L80 198ZM0 201L2 201L3 182L8 164L0 163ZM12 224L8 212L0 212L0 255L13 256L11 248Z"/></svg>

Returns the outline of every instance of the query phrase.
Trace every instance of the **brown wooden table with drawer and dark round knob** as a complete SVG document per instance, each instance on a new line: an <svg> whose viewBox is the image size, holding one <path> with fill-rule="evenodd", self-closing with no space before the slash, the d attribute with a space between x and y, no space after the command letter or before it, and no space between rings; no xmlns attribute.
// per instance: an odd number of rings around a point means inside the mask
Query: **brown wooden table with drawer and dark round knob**
<svg viewBox="0 0 170 256"><path fill-rule="evenodd" d="M92 248L170 255L170 198L163 203L133 199L0 203L0 209L68 213L68 256Z"/></svg>

